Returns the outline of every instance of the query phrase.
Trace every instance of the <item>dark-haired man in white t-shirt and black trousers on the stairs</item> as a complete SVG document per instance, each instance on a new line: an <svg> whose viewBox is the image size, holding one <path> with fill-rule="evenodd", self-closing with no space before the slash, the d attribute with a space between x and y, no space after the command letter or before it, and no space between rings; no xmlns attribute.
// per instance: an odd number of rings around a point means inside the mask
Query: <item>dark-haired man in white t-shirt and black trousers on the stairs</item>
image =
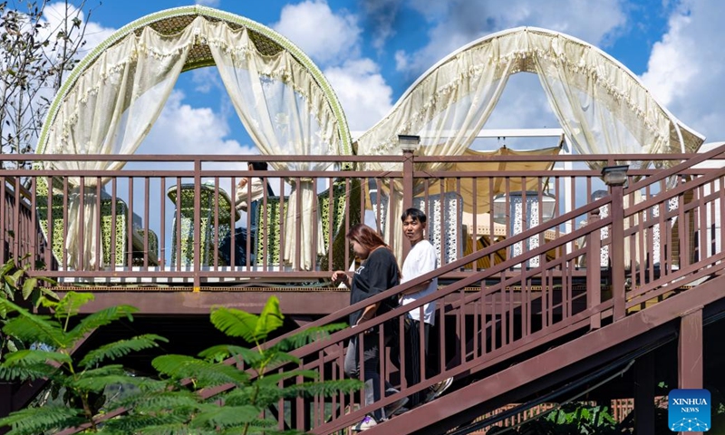
<svg viewBox="0 0 725 435"><path fill-rule="evenodd" d="M405 257L402 264L401 284L411 281L420 275L432 272L438 267L438 256L436 249L425 237L426 221L428 220L418 208L408 208L401 216L403 235L411 242L411 252ZM402 294L401 304L412 304L415 301L430 295L438 290L438 278L430 281L414 285ZM435 301L424 304L418 308L412 309L408 313L409 319L405 323L405 377L408 385L420 382L420 340L423 341L423 349L425 352L425 367L428 376L433 376L435 370L433 364L428 358L428 337L430 326L435 324L436 303ZM420 322L422 321L422 335L420 333ZM400 362L398 350L393 346L393 361ZM399 364L400 367L400 364ZM431 370L432 369L432 370ZM442 382L434 384L427 393L411 396L411 406L416 406L425 401L431 401L445 391L452 382L452 379L446 379Z"/></svg>

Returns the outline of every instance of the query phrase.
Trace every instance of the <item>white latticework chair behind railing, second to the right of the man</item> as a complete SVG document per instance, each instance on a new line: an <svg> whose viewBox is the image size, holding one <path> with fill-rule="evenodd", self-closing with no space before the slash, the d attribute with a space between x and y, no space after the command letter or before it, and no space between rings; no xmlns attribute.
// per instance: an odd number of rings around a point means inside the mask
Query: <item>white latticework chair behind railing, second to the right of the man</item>
<svg viewBox="0 0 725 435"><path fill-rule="evenodd" d="M501 193L493 198L493 220L498 224L508 224L508 237L551 220L555 213L556 198L548 193L539 196L536 190ZM508 217L510 219L507 222ZM524 242L512 245L510 256L522 255L525 250L524 243L527 251L535 249L539 246L539 237L529 237ZM531 258L528 266L538 267L539 258Z"/></svg>

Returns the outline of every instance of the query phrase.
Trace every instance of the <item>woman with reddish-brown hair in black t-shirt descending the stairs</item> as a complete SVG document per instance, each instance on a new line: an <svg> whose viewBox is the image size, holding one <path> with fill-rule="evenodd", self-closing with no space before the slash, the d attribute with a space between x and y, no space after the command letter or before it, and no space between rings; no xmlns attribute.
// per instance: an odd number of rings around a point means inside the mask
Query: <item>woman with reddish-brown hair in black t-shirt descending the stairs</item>
<svg viewBox="0 0 725 435"><path fill-rule="evenodd" d="M333 283L343 283L350 287L350 304L356 304L364 301L374 295L398 285L400 282L400 271L395 256L392 255L391 249L385 245L385 242L371 227L358 224L350 229L347 238L353 246L355 256L362 260L360 267L355 270L351 278L344 271L338 270L333 273ZM398 305L398 298L391 296L383 299L376 304L367 305L364 309L358 310L350 314L350 325L354 328L371 320L376 315L385 314ZM364 327L364 326L362 326ZM377 328L373 328L377 331ZM380 401L382 394L380 391L380 357L381 349L379 348L378 334L374 332L363 333L362 339L362 371L365 381L365 405L370 405L375 401ZM358 339L360 334L356 334L350 340L345 353L344 371L349 377L359 378L360 361ZM398 392L387 385L385 395L391 395ZM372 412L362 421L355 425L354 430L367 430L376 426L380 421L386 420L393 412L400 409L406 402L407 398L402 398L386 406L382 410Z"/></svg>

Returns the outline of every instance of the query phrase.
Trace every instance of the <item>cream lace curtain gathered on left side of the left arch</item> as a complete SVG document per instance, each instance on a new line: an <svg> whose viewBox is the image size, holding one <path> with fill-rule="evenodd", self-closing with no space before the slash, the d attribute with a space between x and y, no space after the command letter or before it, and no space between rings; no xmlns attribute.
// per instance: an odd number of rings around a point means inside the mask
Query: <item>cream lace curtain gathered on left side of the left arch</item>
<svg viewBox="0 0 725 435"><path fill-rule="evenodd" d="M49 154L131 154L159 117L176 83L193 42L189 25L173 36L157 34L150 27L137 36L129 34L103 52L78 79L63 100L44 152ZM55 161L46 166L66 170L121 169L120 161ZM68 179L69 266L84 270L103 265L101 235L96 218L96 178ZM102 179L105 183L107 180ZM83 198L81 198L83 191ZM83 216L81 221L81 208ZM81 231L83 243L80 242ZM100 256L96 256L100 244Z"/></svg>

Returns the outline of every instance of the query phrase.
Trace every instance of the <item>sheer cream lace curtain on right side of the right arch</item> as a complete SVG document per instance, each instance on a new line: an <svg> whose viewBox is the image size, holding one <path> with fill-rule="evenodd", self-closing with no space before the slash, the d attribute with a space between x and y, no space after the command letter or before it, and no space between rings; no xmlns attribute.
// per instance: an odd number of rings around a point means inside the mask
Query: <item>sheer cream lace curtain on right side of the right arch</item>
<svg viewBox="0 0 725 435"><path fill-rule="evenodd" d="M592 46L563 35L526 34L527 56L579 154L688 151L677 135L677 123L671 141L672 120L621 66ZM592 163L592 168L600 169L596 165Z"/></svg>

